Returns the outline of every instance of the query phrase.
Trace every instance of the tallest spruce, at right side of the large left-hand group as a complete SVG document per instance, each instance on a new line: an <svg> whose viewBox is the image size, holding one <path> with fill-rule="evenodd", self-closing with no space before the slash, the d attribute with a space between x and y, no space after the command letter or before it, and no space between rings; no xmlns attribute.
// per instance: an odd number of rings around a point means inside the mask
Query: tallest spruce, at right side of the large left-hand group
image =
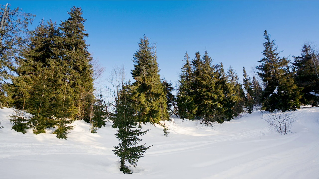
<svg viewBox="0 0 319 179"><path fill-rule="evenodd" d="M59 39L59 46L62 47L61 57L63 59L64 71L66 76L66 86L70 86L70 94L74 106L77 109L75 118L90 121L90 104L94 99L93 95L93 67L91 54L87 51L84 38L89 34L85 33L82 9L72 7L68 12L70 17L61 23L59 28L62 38Z"/></svg>

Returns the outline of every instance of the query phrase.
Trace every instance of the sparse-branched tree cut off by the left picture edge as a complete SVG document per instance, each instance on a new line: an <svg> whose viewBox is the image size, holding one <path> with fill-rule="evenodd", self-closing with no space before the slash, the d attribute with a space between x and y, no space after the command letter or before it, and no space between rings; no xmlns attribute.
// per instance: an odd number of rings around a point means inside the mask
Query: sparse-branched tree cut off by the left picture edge
<svg viewBox="0 0 319 179"><path fill-rule="evenodd" d="M30 33L28 25L32 24L35 15L24 13L19 8L10 9L8 4L7 7L0 5L0 16L3 21L0 29L0 102L6 104L7 101L11 102L8 85L11 72L15 70L15 58L20 56L26 45L26 37Z"/></svg>

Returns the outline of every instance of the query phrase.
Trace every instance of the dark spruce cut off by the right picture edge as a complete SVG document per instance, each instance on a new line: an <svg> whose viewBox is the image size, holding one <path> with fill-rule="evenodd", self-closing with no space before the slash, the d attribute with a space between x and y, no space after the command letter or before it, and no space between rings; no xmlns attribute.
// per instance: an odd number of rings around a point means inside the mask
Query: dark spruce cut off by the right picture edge
<svg viewBox="0 0 319 179"><path fill-rule="evenodd" d="M310 45L304 44L300 56L293 56L293 71L295 82L301 90L303 104L318 105L319 96L319 54Z"/></svg>

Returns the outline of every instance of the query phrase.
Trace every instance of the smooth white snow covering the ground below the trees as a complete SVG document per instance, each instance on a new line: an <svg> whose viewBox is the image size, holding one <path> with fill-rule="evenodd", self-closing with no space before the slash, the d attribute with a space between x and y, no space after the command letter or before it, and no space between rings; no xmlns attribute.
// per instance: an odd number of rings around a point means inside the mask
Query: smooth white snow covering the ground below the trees
<svg viewBox="0 0 319 179"><path fill-rule="evenodd" d="M293 111L294 133L286 135L271 132L258 111L214 126L174 118L168 137L160 125L142 125L151 129L142 143L152 147L133 174L119 170L112 123L92 134L75 121L64 140L54 129L11 130L11 113L0 109L0 178L319 178L319 108Z"/></svg>

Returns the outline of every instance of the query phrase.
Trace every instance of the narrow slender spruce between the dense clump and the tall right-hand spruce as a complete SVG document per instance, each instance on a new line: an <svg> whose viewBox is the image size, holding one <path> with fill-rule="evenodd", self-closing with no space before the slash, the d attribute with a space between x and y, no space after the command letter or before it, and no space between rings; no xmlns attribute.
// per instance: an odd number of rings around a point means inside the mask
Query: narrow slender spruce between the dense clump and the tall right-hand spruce
<svg viewBox="0 0 319 179"><path fill-rule="evenodd" d="M251 78L248 77L245 67L243 68L243 85L246 92L246 101L245 108L246 111L250 114L253 111L254 106L254 96L253 96L253 83L251 82Z"/></svg>

